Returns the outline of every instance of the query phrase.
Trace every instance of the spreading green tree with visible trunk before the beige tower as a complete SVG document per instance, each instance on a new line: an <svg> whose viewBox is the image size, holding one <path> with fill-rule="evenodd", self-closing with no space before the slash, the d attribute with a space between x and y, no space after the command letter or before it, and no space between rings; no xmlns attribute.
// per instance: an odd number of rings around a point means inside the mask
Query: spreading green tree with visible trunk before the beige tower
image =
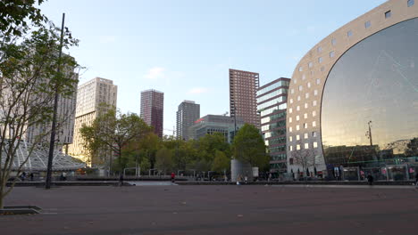
<svg viewBox="0 0 418 235"><path fill-rule="evenodd" d="M109 109L99 115L91 126L83 126L79 132L90 152L112 150L117 158L120 175L128 163L124 153L131 151L130 143L138 142L151 131L151 127L137 114L122 114L115 109ZM139 148L139 145L137 145Z"/></svg>

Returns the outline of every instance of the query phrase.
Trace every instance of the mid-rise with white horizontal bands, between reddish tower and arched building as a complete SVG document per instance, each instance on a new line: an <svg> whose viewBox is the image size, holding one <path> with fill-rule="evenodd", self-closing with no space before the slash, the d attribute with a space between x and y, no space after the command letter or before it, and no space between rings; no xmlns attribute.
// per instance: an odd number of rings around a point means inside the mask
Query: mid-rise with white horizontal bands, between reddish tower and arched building
<svg viewBox="0 0 418 235"><path fill-rule="evenodd" d="M257 90L257 111L261 130L271 157L272 173L287 172L286 109L290 78L280 77Z"/></svg>

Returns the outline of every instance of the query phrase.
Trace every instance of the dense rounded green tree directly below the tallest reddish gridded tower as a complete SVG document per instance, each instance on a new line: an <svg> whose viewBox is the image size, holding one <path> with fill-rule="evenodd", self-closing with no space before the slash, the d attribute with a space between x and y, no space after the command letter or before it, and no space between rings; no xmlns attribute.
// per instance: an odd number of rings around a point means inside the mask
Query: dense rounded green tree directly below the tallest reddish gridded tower
<svg viewBox="0 0 418 235"><path fill-rule="evenodd" d="M266 154L263 136L253 125L245 124L238 130L232 143L232 150L235 158L253 167L263 168L270 160Z"/></svg>

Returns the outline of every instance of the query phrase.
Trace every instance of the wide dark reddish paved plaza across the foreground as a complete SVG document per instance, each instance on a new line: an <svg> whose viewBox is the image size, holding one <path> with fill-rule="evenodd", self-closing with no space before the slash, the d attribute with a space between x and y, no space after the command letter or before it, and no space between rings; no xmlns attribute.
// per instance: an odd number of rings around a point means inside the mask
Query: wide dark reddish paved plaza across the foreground
<svg viewBox="0 0 418 235"><path fill-rule="evenodd" d="M416 234L418 190L361 187L16 187L0 234Z"/></svg>

